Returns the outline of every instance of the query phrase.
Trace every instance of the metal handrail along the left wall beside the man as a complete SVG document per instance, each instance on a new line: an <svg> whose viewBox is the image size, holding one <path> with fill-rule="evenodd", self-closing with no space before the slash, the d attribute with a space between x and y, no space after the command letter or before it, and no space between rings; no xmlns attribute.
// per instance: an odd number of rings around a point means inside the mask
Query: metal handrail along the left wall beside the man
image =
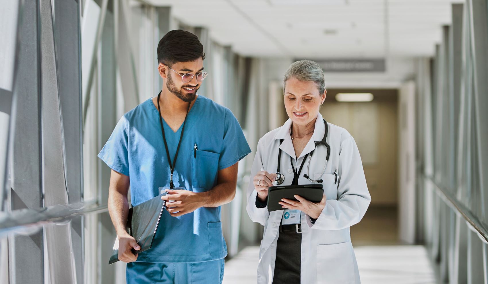
<svg viewBox="0 0 488 284"><path fill-rule="evenodd" d="M106 211L108 211L106 204L101 205L96 200L91 200L69 205L0 212L0 238L12 233L33 234L46 223L60 224L80 215L99 214Z"/></svg>

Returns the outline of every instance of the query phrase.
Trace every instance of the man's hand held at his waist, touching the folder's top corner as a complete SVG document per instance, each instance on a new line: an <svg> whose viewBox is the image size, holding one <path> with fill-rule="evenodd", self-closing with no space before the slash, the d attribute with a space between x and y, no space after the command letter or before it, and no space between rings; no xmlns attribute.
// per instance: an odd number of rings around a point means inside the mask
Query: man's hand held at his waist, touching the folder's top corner
<svg viewBox="0 0 488 284"><path fill-rule="evenodd" d="M166 189L166 191L168 194L162 196L161 199L166 201L166 210L173 217L191 213L205 204L202 193L184 189ZM169 202L170 200L172 202Z"/></svg>

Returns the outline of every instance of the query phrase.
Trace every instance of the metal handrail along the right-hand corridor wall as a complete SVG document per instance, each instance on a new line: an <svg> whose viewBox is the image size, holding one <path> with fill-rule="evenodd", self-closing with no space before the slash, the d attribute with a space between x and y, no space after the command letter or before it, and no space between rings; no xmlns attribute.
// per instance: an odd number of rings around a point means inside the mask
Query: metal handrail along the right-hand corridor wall
<svg viewBox="0 0 488 284"><path fill-rule="evenodd" d="M478 233L478 237L485 243L488 244L488 225L483 221L479 220L478 217L463 203L461 203L451 192L443 189L441 186L435 183L432 177L423 175L435 188L436 193L444 200L449 207L455 209L466 222L469 224L468 227L474 232Z"/></svg>

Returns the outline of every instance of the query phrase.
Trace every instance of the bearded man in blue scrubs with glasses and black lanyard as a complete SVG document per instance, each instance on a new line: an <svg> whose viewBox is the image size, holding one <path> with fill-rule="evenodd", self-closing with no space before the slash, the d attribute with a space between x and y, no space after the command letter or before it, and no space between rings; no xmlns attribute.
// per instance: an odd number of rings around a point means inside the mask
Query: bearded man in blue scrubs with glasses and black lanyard
<svg viewBox="0 0 488 284"><path fill-rule="evenodd" d="M119 259L127 263L127 283L222 283L220 206L234 198L237 162L251 150L232 112L197 95L207 75L198 38L170 31L157 52L161 93L127 112L98 155L112 168L108 209ZM158 196L158 187L172 188L162 197L172 202L153 246L139 254L126 232L129 187L132 205Z"/></svg>

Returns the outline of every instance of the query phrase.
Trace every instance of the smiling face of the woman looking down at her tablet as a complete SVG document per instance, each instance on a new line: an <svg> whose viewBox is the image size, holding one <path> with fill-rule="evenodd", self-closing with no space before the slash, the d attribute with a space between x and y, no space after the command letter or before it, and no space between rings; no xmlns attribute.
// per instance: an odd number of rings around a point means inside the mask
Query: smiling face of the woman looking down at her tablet
<svg viewBox="0 0 488 284"><path fill-rule="evenodd" d="M325 90L320 94L313 81L299 81L294 77L288 79L284 94L286 114L298 126L309 125L317 118L326 93Z"/></svg>

